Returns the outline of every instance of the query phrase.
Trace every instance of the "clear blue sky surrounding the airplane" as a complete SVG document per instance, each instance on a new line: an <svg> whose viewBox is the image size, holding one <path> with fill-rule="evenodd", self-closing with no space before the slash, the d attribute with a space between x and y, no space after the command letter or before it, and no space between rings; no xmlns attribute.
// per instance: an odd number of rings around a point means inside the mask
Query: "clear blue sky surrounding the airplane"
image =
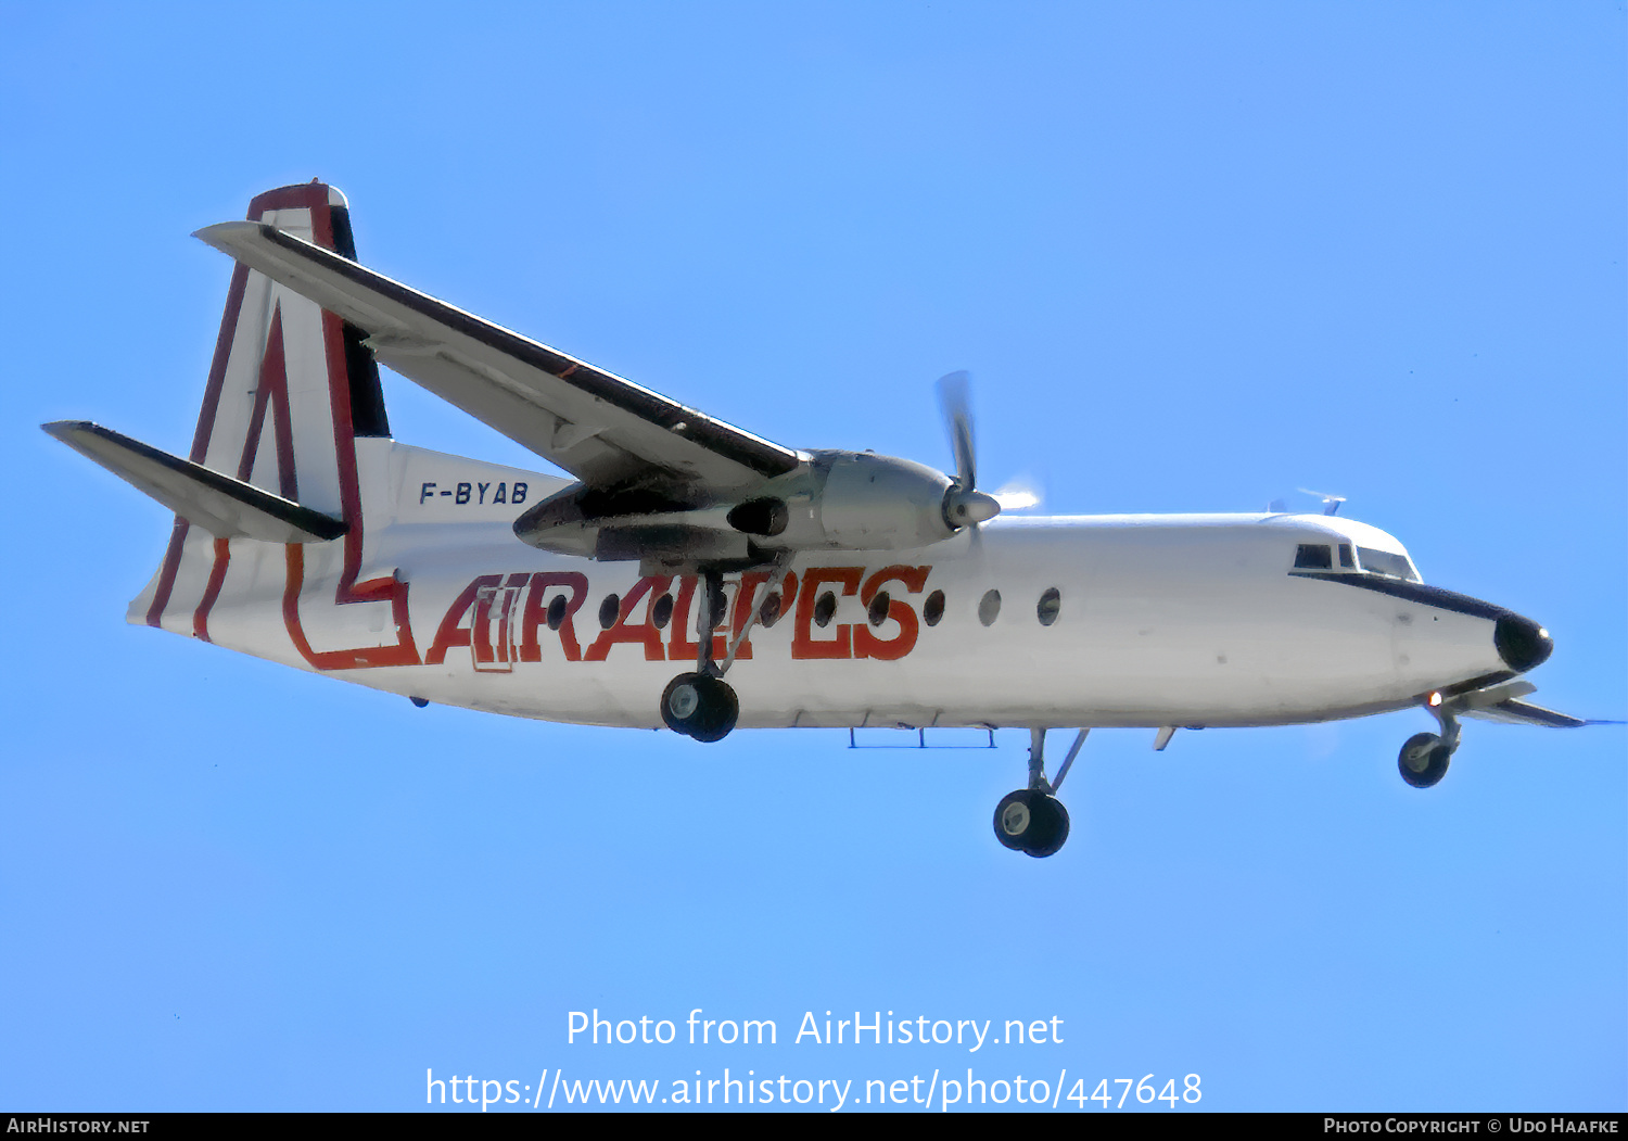
<svg viewBox="0 0 1628 1141"><path fill-rule="evenodd" d="M168 514L36 426L186 452L230 275L187 234L322 177L365 262L785 444L949 466L931 383L965 368L980 475L1048 509L1346 495L1553 632L1535 700L1621 718L1620 2L3 20L0 1108L409 1110L427 1069L851 1102L969 1066L1065 1071L1065 1107L1144 1074L1201 1108L1628 1104L1620 728L1468 724L1429 793L1395 773L1421 713L1102 731L1034 861L988 824L1016 731L702 747L127 627ZM386 399L409 443L534 466ZM780 1042L684 1045L695 1008ZM568 1043L591 1009L681 1042ZM796 1043L809 1011L1063 1042Z"/></svg>

